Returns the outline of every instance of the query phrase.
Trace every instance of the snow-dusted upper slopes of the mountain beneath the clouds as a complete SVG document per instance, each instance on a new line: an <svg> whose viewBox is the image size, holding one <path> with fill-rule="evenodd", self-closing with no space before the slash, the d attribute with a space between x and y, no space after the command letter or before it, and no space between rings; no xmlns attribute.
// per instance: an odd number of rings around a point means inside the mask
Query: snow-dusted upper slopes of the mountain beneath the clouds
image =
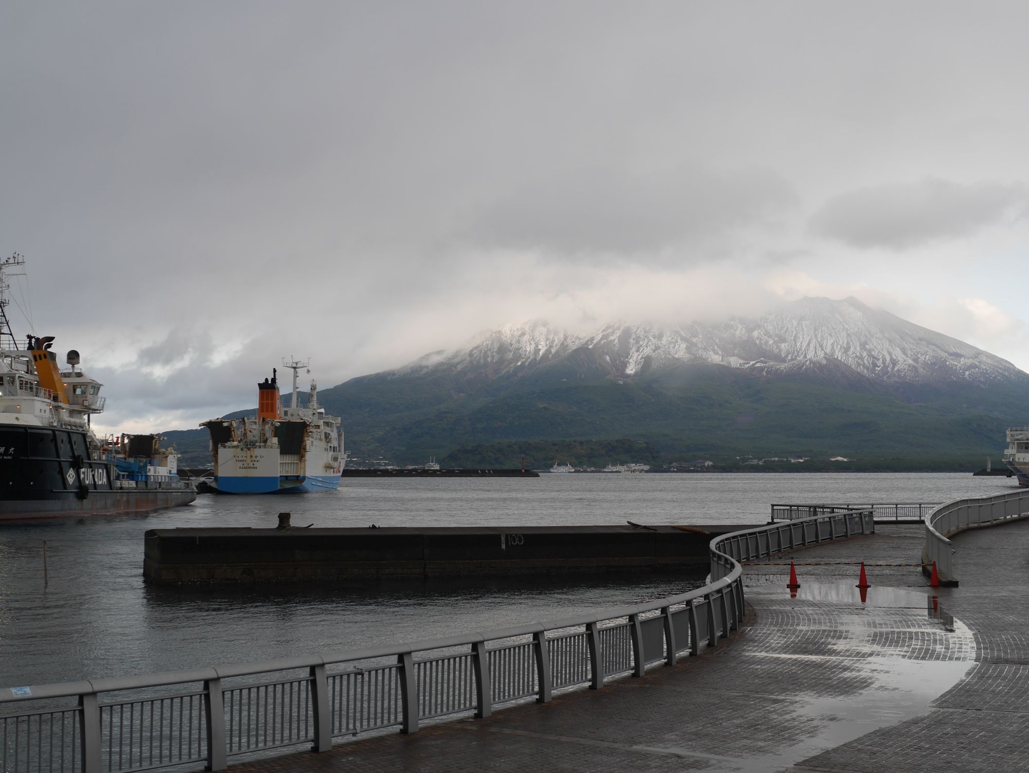
<svg viewBox="0 0 1029 773"><path fill-rule="evenodd" d="M588 335L540 321L506 325L468 349L426 355L393 374L469 372L494 379L527 374L576 351L592 355L617 378L688 363L770 375L850 368L886 384L987 385L1025 378L1000 357L854 297L806 297L761 317L734 317L717 324L617 323Z"/></svg>

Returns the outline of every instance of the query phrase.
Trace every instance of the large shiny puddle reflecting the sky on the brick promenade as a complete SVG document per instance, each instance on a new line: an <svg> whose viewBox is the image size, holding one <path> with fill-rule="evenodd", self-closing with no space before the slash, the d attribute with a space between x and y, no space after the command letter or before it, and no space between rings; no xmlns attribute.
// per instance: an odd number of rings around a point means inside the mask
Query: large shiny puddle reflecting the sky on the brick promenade
<svg viewBox="0 0 1029 773"><path fill-rule="evenodd" d="M914 589L870 588L862 604L855 582L849 583L803 583L797 590L796 600L835 601L845 607L839 624L851 631L851 638L844 644L847 652L855 649L881 653L882 647L874 645L871 636L882 631L883 626L871 625L876 618L876 609L911 609L914 617L926 616L929 595ZM786 593L786 591L784 589ZM896 623L893 620L894 627ZM870 657L847 658L848 673L858 672L872 678L872 683L856 694L842 697L797 697L788 709L794 717L808 721L809 732L805 737L769 753L747 760L722 759L709 770L734 771L785 771L796 763L827 749L859 738L880 728L890 727L916 716L925 714L930 704L956 684L974 665L975 646L971 631L960 621L954 621L954 630L937 630L946 637L957 636L965 640L961 660L912 660L902 653L893 655L870 655ZM887 624L888 626L888 624ZM898 629L897 629L898 630ZM862 640L863 639L863 640ZM808 655L767 655L769 658L804 658L826 661L825 667L836 656ZM839 657L846 657L841 654ZM931 657L931 655L929 656ZM942 654L942 657L946 657ZM787 724L788 721L787 721Z"/></svg>

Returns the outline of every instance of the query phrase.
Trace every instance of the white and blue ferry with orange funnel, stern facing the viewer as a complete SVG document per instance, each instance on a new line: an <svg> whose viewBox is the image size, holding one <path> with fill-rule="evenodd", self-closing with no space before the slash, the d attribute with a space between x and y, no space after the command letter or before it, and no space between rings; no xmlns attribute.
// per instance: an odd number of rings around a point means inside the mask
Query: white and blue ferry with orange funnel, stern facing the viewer
<svg viewBox="0 0 1029 773"><path fill-rule="evenodd" d="M257 384L257 415L212 419L201 424L211 433L212 490L224 494L285 494L332 491L347 457L343 424L318 405L312 379L308 405L296 405L297 371L307 362L283 362L293 371L289 408L282 407L277 368ZM310 373L310 371L308 371Z"/></svg>

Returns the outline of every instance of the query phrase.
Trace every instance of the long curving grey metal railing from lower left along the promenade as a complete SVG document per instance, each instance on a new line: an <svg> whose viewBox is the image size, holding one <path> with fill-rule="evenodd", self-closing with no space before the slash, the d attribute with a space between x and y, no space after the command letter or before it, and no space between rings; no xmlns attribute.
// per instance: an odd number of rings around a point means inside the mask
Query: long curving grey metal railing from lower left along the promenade
<svg viewBox="0 0 1029 773"><path fill-rule="evenodd" d="M875 530L847 512L724 534L709 584L634 606L512 628L218 668L0 689L0 769L151 770L474 712L674 665L743 621L741 562ZM164 689L164 690L163 690ZM73 700L72 700L73 699ZM6 704L6 705L5 705Z"/></svg>

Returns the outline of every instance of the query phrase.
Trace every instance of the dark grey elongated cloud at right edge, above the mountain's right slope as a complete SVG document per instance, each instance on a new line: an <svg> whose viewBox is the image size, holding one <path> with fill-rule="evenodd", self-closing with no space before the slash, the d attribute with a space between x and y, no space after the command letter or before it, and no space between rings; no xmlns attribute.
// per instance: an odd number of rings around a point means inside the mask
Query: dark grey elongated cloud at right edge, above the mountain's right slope
<svg viewBox="0 0 1029 773"><path fill-rule="evenodd" d="M811 218L812 231L854 247L909 249L968 237L1029 202L1022 184L962 185L927 178L841 194Z"/></svg>

